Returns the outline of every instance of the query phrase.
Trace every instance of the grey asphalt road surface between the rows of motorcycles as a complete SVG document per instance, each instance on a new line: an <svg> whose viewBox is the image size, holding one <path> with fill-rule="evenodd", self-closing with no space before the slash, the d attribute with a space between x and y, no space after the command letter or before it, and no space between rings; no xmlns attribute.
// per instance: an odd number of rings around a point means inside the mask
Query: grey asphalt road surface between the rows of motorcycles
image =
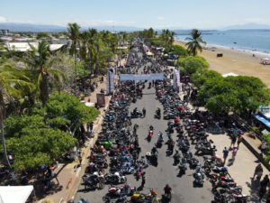
<svg viewBox="0 0 270 203"><path fill-rule="evenodd" d="M148 87L148 85L146 85ZM142 99L139 99L136 104L131 104L130 110L134 107L138 107L140 110L144 106L147 109L147 115L145 118L132 119L132 124L138 124L139 144L141 146L141 154L150 152L154 143L157 143L157 133L161 131L165 134L166 123L165 120L154 119L154 113L157 106L161 104L155 98L155 89L145 88ZM163 112L163 111L161 111ZM148 143L145 138L148 134L148 126L154 126L154 137L151 143ZM175 136L175 135L174 135ZM168 183L173 189L172 202L177 203L210 203L212 199L211 185L208 181L205 182L203 188L193 188L193 171L188 170L181 178L176 177L177 168L173 166L173 158L166 157L166 145L163 145L161 149L158 149L158 165L157 167L149 166L146 170L146 184L145 189L154 188L157 189L158 196L163 193L163 188ZM128 176L128 182L131 185L139 187L140 181L136 181L132 175ZM84 186L80 186L80 189L84 189ZM106 193L108 186L103 190L87 191L78 190L76 199L82 197L87 198L91 203L102 202L102 197Z"/></svg>

